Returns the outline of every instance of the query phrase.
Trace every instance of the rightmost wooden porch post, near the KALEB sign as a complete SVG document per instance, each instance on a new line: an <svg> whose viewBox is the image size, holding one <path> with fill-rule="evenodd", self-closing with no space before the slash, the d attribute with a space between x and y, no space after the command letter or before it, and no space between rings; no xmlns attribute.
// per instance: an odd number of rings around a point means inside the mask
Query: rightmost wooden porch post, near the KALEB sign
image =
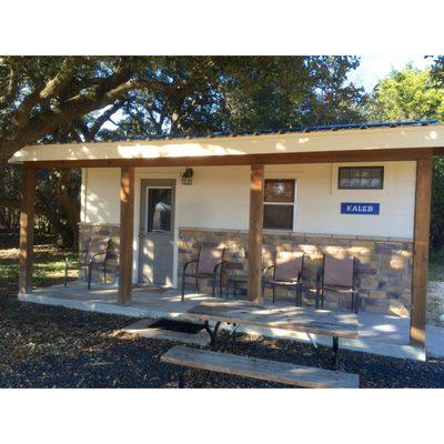
<svg viewBox="0 0 444 444"><path fill-rule="evenodd" d="M416 161L410 342L425 346L433 158Z"/></svg>

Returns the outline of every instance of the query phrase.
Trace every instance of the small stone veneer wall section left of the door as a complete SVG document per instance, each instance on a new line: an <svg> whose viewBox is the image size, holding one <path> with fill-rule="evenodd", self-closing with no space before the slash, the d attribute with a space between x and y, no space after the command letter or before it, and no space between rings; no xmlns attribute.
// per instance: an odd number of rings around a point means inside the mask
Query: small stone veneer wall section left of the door
<svg viewBox="0 0 444 444"><path fill-rule="evenodd" d="M119 282L119 245L120 245L120 224L118 223L79 223L79 251L88 250L89 242L92 238L111 236L109 246L109 255L107 261L107 283L118 284ZM79 275L83 279L83 270L79 271ZM93 271L93 282L103 282L101 273Z"/></svg>

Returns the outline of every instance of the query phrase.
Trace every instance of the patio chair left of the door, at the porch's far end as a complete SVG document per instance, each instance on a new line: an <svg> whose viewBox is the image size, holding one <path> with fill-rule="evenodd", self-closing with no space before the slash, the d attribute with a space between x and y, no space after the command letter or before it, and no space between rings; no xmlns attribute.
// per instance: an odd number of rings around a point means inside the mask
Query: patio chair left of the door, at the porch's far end
<svg viewBox="0 0 444 444"><path fill-rule="evenodd" d="M93 238L88 249L80 252L80 260L77 263L69 263L68 258L64 261L64 286L68 284L68 268L75 265L84 269L84 280L88 282L88 290L91 289L92 269L99 269L103 272L103 279L107 283L107 260L111 238Z"/></svg>

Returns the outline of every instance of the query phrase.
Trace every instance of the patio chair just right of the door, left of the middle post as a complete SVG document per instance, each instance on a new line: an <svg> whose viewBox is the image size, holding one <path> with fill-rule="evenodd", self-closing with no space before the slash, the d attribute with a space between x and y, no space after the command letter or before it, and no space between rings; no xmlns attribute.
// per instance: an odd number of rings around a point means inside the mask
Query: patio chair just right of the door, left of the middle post
<svg viewBox="0 0 444 444"><path fill-rule="evenodd" d="M182 271L182 301L185 300L185 279L195 279L195 290L199 293L199 280L200 279L212 279L212 296L215 294L216 280L219 278L219 287L222 297L222 272L223 272L223 256L225 249L220 246L201 245L199 248L198 259L186 262L183 265ZM194 273L186 273L186 269L195 264Z"/></svg>

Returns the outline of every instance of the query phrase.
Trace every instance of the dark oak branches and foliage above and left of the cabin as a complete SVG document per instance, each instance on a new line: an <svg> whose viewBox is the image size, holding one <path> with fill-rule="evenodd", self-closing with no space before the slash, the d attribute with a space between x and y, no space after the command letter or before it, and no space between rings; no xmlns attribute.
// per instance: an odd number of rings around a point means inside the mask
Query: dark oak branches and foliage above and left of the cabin
<svg viewBox="0 0 444 444"><path fill-rule="evenodd" d="M354 57L0 57L0 168L32 143L355 121L364 94L346 75L357 64ZM7 170L0 216L14 226L20 195ZM79 171L38 179L38 214L72 244Z"/></svg>

